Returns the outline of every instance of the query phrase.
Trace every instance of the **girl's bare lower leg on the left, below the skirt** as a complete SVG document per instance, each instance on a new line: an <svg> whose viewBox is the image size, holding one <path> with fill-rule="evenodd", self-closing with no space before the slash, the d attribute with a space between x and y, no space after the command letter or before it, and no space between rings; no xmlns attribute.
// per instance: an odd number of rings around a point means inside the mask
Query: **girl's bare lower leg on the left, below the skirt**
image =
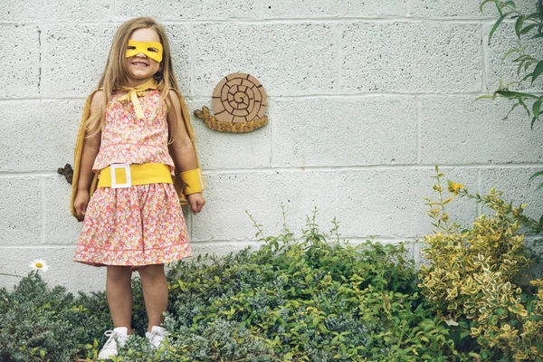
<svg viewBox="0 0 543 362"><path fill-rule="evenodd" d="M132 334L132 271L129 266L108 265L106 294L113 327L126 327Z"/></svg>

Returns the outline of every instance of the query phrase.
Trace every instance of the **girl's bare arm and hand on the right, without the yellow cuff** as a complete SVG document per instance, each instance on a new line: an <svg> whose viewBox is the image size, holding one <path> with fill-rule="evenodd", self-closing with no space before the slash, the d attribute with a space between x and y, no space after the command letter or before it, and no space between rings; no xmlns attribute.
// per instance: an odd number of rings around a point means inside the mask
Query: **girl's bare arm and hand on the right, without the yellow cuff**
<svg viewBox="0 0 543 362"><path fill-rule="evenodd" d="M198 167L196 153L192 140L186 133L185 124L181 117L181 103L175 90L170 90L169 99L172 102L172 110L167 112L167 122L170 134L173 136L172 149L176 158L176 167L179 171L188 171ZM173 127L175 125L175 127ZM193 213L198 214L205 205L202 193L186 195L188 204Z"/></svg>

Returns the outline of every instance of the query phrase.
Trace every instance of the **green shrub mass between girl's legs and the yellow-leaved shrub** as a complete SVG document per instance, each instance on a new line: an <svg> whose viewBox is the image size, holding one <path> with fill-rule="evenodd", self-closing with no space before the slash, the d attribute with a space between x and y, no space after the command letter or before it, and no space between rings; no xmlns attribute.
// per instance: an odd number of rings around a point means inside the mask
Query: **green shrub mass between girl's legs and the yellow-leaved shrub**
<svg viewBox="0 0 543 362"><path fill-rule="evenodd" d="M202 361L457 359L448 327L424 309L403 244L349 245L337 223L330 241L315 215L300 241L286 227L271 237L257 227L260 250L169 272L170 351Z"/></svg>

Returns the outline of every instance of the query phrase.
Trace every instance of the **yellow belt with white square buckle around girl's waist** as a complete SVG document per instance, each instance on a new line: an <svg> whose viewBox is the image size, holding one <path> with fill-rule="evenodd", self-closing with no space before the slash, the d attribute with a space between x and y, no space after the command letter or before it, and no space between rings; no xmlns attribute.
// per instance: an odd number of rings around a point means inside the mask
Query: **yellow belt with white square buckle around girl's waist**
<svg viewBox="0 0 543 362"><path fill-rule="evenodd" d="M164 164L114 164L100 171L98 187L127 188L172 183L170 169Z"/></svg>

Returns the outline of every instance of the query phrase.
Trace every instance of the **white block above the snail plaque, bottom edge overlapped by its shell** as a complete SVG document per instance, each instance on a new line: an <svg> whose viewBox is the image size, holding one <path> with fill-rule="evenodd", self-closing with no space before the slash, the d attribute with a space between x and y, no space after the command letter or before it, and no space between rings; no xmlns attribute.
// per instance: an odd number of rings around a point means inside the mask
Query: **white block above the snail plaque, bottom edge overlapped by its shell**
<svg viewBox="0 0 543 362"><path fill-rule="evenodd" d="M269 96L332 94L334 24L195 24L195 94L210 96L224 76L258 75Z"/></svg>

